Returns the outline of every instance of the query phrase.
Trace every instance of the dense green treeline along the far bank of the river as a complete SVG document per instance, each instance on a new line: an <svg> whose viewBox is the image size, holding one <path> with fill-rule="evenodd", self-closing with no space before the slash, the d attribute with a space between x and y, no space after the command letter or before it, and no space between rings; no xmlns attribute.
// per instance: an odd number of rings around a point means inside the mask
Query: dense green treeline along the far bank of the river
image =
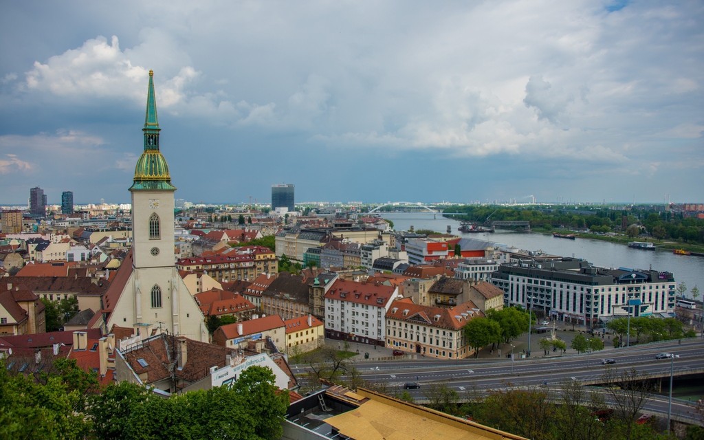
<svg viewBox="0 0 704 440"><path fill-rule="evenodd" d="M460 221L491 222L494 220L527 220L532 229L538 230L589 230L595 233L621 232L629 237L649 236L657 240L677 240L684 243L704 244L704 219L685 217L672 210L656 210L650 206L634 206L630 210L612 210L603 207L536 206L453 206L453 215ZM626 228L622 229L626 216Z"/></svg>

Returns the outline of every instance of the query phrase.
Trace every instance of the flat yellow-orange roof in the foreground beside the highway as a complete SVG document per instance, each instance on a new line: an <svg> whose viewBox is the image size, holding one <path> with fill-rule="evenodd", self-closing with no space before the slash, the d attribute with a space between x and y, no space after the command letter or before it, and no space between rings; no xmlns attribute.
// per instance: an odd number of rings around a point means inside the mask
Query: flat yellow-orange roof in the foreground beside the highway
<svg viewBox="0 0 704 440"><path fill-rule="evenodd" d="M358 389L357 394L370 400L325 420L355 440L524 439L373 391Z"/></svg>

